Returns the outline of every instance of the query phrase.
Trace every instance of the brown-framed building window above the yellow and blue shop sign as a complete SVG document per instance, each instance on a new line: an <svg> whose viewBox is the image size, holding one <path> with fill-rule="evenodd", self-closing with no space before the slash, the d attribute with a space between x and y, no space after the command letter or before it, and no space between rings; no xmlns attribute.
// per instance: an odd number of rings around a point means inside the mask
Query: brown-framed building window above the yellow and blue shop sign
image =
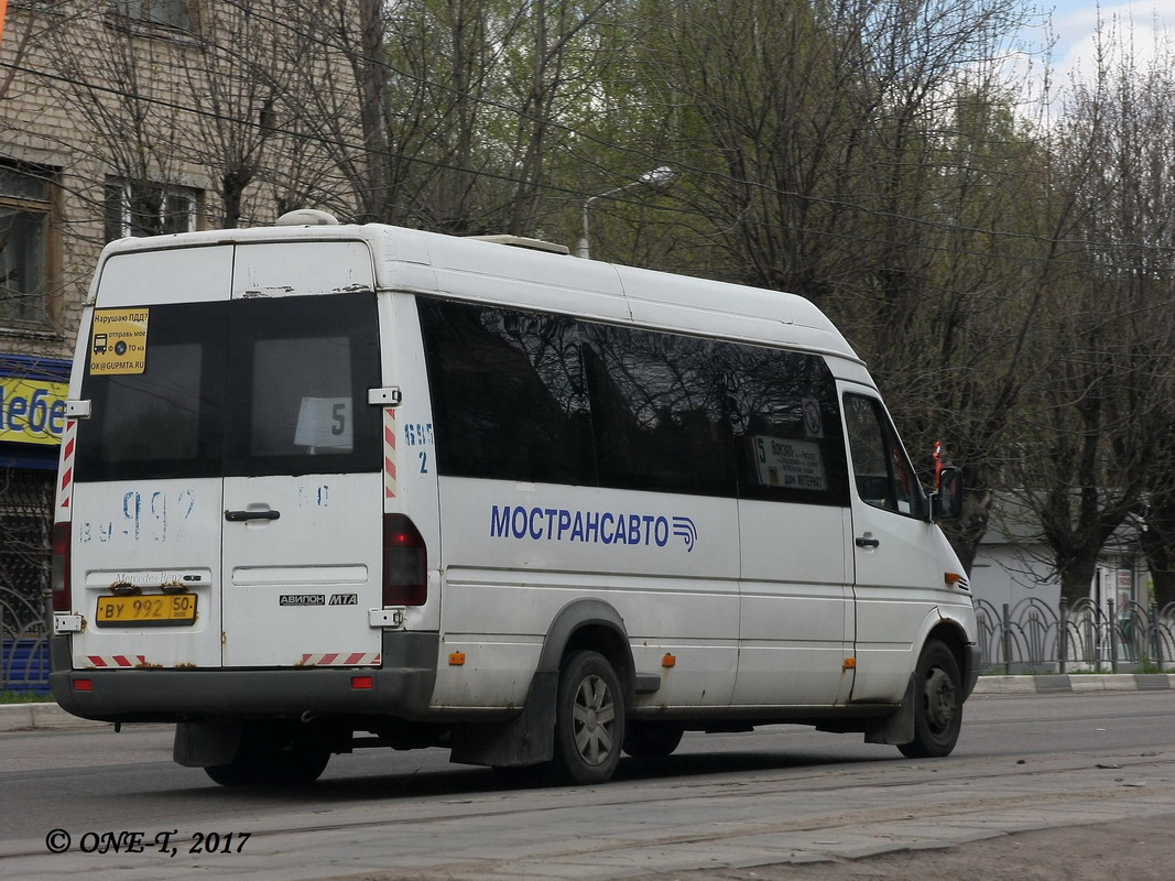
<svg viewBox="0 0 1175 881"><path fill-rule="evenodd" d="M46 317L49 211L46 174L0 166L0 323Z"/></svg>

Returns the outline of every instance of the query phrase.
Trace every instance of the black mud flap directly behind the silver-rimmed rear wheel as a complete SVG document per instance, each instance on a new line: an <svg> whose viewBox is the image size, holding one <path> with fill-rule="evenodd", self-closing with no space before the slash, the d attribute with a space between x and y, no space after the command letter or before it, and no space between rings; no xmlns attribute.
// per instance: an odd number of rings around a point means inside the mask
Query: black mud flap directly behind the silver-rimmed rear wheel
<svg viewBox="0 0 1175 881"><path fill-rule="evenodd" d="M504 768L550 761L555 756L558 685L557 670L539 671L531 680L525 708L510 721L457 725L452 732L449 761Z"/></svg>

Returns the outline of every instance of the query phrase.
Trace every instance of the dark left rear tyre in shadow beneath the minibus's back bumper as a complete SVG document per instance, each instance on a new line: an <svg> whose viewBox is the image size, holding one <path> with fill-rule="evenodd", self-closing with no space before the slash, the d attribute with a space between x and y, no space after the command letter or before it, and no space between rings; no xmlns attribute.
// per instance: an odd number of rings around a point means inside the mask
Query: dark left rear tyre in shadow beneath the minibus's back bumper
<svg viewBox="0 0 1175 881"><path fill-rule="evenodd" d="M221 786L300 786L313 784L330 761L330 751L289 726L256 725L241 733L233 761L204 768Z"/></svg>

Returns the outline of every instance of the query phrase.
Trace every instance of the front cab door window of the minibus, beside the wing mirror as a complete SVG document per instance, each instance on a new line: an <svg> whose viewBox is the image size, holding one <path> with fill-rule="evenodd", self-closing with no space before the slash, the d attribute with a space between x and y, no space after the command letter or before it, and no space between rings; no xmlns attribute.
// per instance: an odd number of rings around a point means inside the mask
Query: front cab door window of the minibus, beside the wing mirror
<svg viewBox="0 0 1175 881"><path fill-rule="evenodd" d="M924 497L918 479L881 403L864 395L845 395L845 425L861 502L921 517Z"/></svg>

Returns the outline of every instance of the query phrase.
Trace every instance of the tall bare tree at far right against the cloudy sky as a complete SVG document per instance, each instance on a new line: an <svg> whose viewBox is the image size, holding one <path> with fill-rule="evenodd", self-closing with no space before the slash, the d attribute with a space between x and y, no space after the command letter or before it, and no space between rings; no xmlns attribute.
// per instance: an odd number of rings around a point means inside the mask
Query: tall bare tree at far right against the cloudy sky
<svg viewBox="0 0 1175 881"><path fill-rule="evenodd" d="M1101 33L1094 80L1073 85L1055 134L1056 182L1073 204L1072 271L1046 290L1042 371L1009 469L1067 601L1088 596L1107 542L1148 512L1155 534L1144 546L1162 578L1175 492L1175 79L1169 53L1142 61L1117 36Z"/></svg>

